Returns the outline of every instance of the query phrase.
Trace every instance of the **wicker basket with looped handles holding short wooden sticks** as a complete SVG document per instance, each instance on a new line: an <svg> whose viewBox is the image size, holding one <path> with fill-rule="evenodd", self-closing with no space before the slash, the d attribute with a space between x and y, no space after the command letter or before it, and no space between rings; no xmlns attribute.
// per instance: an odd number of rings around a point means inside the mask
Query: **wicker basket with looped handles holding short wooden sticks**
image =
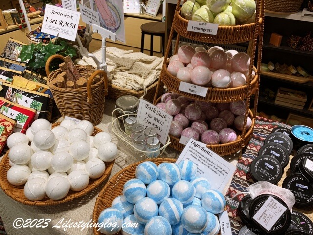
<svg viewBox="0 0 313 235"><path fill-rule="evenodd" d="M49 71L50 63L55 58L63 59L63 56L51 56L45 65L45 69L48 74L47 84L61 115L63 117L69 116L79 120L88 120L93 125L99 124L103 118L104 100L108 92L107 73L102 70L95 71L88 79L87 87L59 88L54 86L51 81L56 78L62 70L57 69L51 73ZM87 74L85 66L78 65L76 68L82 77ZM100 74L103 75L101 80L91 85L95 76Z"/></svg>

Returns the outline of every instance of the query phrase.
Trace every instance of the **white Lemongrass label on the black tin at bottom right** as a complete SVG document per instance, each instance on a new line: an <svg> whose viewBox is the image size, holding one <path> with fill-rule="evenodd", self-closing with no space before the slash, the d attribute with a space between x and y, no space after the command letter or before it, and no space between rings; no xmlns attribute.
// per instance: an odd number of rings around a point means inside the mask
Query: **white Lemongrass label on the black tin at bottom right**
<svg viewBox="0 0 313 235"><path fill-rule="evenodd" d="M269 196L259 211L255 213L253 219L269 231L286 210L284 205Z"/></svg>

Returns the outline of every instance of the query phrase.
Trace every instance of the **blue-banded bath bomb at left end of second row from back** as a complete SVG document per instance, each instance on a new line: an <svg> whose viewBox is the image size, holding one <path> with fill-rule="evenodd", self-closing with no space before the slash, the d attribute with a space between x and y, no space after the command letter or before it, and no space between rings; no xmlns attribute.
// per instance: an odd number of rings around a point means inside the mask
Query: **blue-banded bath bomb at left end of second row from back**
<svg viewBox="0 0 313 235"><path fill-rule="evenodd" d="M123 195L129 203L135 204L139 199L144 198L146 194L147 187L139 179L131 179L124 184Z"/></svg>

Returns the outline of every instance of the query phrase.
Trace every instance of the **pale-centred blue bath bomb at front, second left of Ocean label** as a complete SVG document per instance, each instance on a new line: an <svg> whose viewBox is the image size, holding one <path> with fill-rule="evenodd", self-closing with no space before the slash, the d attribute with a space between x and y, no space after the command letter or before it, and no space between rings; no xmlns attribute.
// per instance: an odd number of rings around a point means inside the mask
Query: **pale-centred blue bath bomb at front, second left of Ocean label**
<svg viewBox="0 0 313 235"><path fill-rule="evenodd" d="M201 233L208 223L207 213L199 205L190 205L182 212L181 223L189 233Z"/></svg>

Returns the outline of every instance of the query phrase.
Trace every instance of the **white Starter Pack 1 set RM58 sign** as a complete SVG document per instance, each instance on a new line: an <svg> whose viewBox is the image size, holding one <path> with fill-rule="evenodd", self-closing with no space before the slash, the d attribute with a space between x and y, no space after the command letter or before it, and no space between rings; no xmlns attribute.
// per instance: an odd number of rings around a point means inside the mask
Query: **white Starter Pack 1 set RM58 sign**
<svg viewBox="0 0 313 235"><path fill-rule="evenodd" d="M46 4L41 31L75 41L79 18L80 12Z"/></svg>

